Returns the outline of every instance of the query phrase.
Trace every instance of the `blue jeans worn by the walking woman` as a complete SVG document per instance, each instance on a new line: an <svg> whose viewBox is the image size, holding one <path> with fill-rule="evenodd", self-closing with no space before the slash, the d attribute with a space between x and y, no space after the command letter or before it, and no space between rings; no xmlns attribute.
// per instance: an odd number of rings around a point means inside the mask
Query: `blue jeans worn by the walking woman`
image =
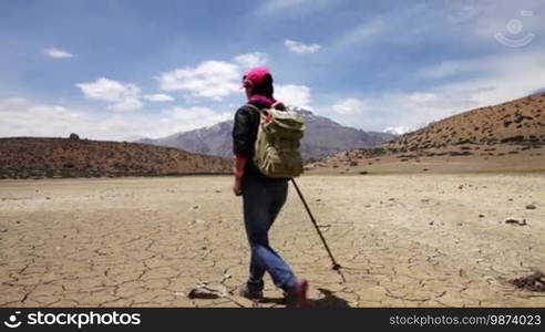
<svg viewBox="0 0 545 332"><path fill-rule="evenodd" d="M287 290L296 283L291 268L270 248L268 236L287 195L287 180L254 175L243 178L244 224L251 249L248 287L253 290L263 289L266 271L279 288Z"/></svg>

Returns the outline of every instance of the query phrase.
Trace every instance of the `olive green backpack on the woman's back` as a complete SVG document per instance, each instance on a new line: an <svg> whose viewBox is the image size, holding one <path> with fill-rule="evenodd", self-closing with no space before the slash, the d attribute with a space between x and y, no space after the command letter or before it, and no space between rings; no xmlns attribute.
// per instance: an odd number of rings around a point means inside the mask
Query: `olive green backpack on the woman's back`
<svg viewBox="0 0 545 332"><path fill-rule="evenodd" d="M259 129L254 153L254 164L269 177L290 178L302 173L299 141L305 132L302 117L291 111L259 110Z"/></svg>

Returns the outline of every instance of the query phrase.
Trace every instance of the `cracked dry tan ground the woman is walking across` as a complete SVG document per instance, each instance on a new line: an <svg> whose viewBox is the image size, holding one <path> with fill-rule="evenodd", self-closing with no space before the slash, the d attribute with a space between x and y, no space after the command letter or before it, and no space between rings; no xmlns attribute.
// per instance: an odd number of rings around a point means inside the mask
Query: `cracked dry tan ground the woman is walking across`
<svg viewBox="0 0 545 332"><path fill-rule="evenodd" d="M187 298L199 281L230 290L246 278L230 185L223 176L0 181L0 305L281 307L268 277L265 303ZM316 305L545 305L544 293L507 282L545 269L543 174L305 176L299 185L346 282L291 187L271 241L309 279Z"/></svg>

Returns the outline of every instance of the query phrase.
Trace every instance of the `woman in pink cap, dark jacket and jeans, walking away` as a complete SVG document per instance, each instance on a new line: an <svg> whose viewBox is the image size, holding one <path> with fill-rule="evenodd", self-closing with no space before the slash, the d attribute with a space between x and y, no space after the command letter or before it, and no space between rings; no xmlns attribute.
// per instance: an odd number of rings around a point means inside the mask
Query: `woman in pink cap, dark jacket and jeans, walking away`
<svg viewBox="0 0 545 332"><path fill-rule="evenodd" d="M243 77L248 104L257 108L285 110L272 97L272 75L266 68L255 68ZM291 268L269 246L268 231L280 211L288 194L288 179L263 175L253 163L254 145L259 126L259 112L244 105L235 114L233 149L235 159L236 196L243 196L244 222L251 249L248 281L240 288L240 295L263 298L265 272L281 288L288 305L306 307L308 282L297 278Z"/></svg>

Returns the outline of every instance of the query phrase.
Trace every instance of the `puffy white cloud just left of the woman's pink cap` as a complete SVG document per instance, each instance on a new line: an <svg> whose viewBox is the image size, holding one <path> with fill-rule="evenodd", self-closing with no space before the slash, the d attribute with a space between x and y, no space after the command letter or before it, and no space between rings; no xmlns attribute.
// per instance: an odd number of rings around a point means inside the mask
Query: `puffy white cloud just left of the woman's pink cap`
<svg viewBox="0 0 545 332"><path fill-rule="evenodd" d="M192 96L220 101L238 92L240 72L238 65L225 61L205 61L197 66L186 66L162 73L163 91L184 91Z"/></svg>

